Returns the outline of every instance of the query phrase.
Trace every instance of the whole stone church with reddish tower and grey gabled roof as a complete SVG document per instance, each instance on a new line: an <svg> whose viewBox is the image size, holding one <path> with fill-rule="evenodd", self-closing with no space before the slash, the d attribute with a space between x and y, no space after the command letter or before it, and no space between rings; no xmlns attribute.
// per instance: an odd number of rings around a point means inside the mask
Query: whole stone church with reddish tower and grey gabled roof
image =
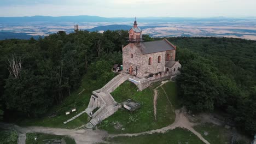
<svg viewBox="0 0 256 144"><path fill-rule="evenodd" d="M175 61L176 46L167 39L143 42L142 31L135 20L129 31L129 44L123 47L123 70L138 78L179 73L181 64Z"/></svg>

